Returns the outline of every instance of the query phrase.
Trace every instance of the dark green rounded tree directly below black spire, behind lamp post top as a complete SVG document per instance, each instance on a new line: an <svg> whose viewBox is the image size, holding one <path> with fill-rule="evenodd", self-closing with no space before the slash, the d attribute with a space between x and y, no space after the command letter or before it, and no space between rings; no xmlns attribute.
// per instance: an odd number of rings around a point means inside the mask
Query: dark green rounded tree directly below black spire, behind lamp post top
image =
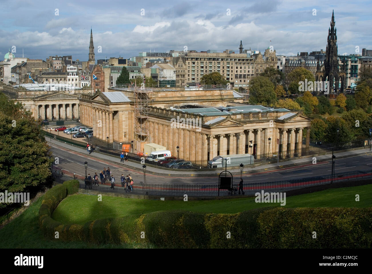
<svg viewBox="0 0 372 274"><path fill-rule="evenodd" d="M355 140L355 134L342 118L330 116L327 118L326 123L327 131L325 133L325 141L330 143L342 143ZM338 134L337 129L339 129Z"/></svg>

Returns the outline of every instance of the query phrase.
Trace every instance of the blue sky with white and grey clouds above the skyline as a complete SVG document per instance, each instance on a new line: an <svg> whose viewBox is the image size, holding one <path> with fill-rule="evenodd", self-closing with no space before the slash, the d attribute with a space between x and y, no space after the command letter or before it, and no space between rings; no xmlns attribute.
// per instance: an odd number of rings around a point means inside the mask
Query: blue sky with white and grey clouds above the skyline
<svg viewBox="0 0 372 274"><path fill-rule="evenodd" d="M245 49L277 55L325 50L334 9L339 54L372 49L370 0L38 1L1 0L0 59L88 59L90 27L97 59L138 52ZM98 52L99 47L102 52Z"/></svg>

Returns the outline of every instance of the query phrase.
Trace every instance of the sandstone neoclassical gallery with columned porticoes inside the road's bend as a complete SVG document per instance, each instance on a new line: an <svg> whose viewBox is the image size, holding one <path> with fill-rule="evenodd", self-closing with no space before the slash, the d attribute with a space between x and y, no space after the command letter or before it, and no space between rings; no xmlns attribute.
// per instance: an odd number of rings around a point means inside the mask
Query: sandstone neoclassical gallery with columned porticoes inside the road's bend
<svg viewBox="0 0 372 274"><path fill-rule="evenodd" d="M109 90L82 96L81 123L93 127L94 136L101 140L130 143L135 140L134 92ZM179 146L179 157L186 160L275 151L292 157L294 150L302 148L303 136L309 144L311 120L301 111L244 105L243 97L231 90L224 90L223 98L219 90L151 93L147 139L134 142L140 151L145 143L157 143L172 154ZM182 124L182 119L187 123Z"/></svg>

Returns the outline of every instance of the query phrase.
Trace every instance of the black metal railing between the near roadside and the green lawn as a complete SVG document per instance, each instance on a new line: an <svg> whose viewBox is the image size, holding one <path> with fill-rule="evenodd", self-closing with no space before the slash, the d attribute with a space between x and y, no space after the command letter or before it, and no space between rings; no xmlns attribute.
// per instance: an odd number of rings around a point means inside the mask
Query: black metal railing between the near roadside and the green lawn
<svg viewBox="0 0 372 274"><path fill-rule="evenodd" d="M240 177L235 177L232 181L231 189L220 189L218 191L218 184L154 184L154 183L136 183L134 182L132 188L121 182L115 182L113 187L110 182L87 181L83 177L71 176L62 172L61 169L54 167L52 174L55 182L63 183L66 180L77 179L81 189L96 190L99 192L111 192L122 194L135 195L153 195L153 196L183 196L187 194L192 197L212 197L212 196L231 196L239 195L238 180ZM312 186L329 185L332 183L350 182L358 180L371 180L372 170L352 171L345 173L337 173L332 175L324 175L317 177L292 179L276 182L257 183L254 179L251 182L244 183L244 195L254 196L255 193L261 192L287 192L290 190L304 189ZM242 193L243 194L243 193Z"/></svg>

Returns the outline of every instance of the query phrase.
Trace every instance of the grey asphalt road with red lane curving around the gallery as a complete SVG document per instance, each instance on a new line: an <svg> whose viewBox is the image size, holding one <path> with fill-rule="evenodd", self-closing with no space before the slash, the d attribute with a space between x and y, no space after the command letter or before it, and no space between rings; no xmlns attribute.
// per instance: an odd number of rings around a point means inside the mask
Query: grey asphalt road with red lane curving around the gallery
<svg viewBox="0 0 372 274"><path fill-rule="evenodd" d="M49 143L51 146L52 155L59 158L57 167L63 168L67 173L76 173L77 175L84 176L85 167L84 162L89 163L87 172L93 177L94 172L99 174L103 167L110 167L116 181L120 180L121 174L125 176L131 174L134 182L141 183L144 180L142 172L125 167L118 160L117 163L106 162L104 160L95 159L94 153L91 156L87 154L78 153L76 151L57 146ZM309 158L308 164L301 166L285 167L278 170L252 173L243 175L244 183L249 182L272 182L279 180L301 179L305 177L321 176L331 174L331 156L329 161L318 162L312 164ZM343 159L336 159L335 172L343 173L355 170L368 170L372 169L372 153L366 152L359 156L352 156ZM160 183L160 184L209 184L218 183L218 176L205 176L205 177L183 177L183 176L168 176L167 171L164 171L164 177L154 174L146 174L147 183ZM234 183L238 182L239 176L234 177Z"/></svg>

